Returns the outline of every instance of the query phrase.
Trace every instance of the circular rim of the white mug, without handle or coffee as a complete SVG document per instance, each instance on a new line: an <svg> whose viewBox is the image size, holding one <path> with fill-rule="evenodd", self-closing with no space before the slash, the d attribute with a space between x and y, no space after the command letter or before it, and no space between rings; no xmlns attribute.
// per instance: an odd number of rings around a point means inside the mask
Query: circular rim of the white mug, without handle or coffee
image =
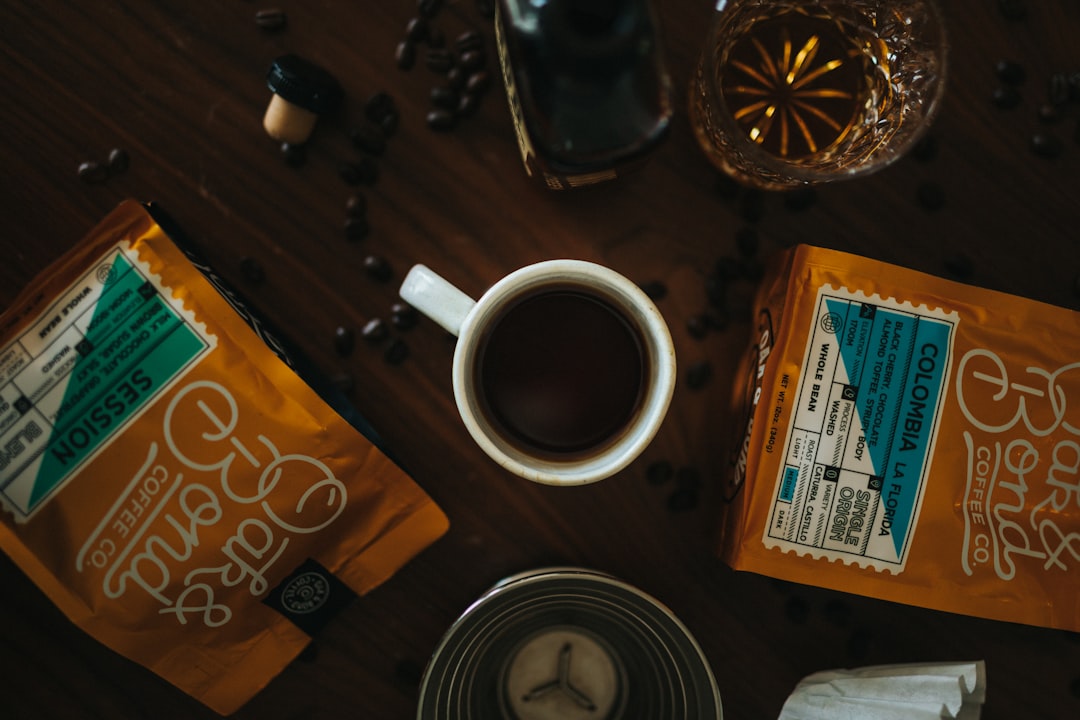
<svg viewBox="0 0 1080 720"><path fill-rule="evenodd" d="M638 327L645 354L652 368L643 406L620 436L598 452L570 461L529 456L499 438L472 392L473 362L483 336L483 324L498 315L505 301L530 288L592 281L588 285L615 301L622 315ZM596 281L599 281L597 283ZM477 325L480 324L480 325ZM485 291L461 323L454 352L454 397L458 412L473 440L511 473L543 485L567 486L594 483L615 475L633 462L656 436L666 416L675 390L675 348L666 322L652 300L624 275L588 260L543 260L519 268Z"/></svg>

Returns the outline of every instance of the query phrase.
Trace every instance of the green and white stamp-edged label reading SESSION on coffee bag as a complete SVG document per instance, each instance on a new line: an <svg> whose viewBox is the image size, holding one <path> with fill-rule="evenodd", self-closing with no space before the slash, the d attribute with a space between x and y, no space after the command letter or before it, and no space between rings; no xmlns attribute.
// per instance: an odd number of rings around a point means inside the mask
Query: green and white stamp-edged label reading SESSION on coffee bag
<svg viewBox="0 0 1080 720"><path fill-rule="evenodd" d="M214 338L117 246L0 348L0 500L25 521Z"/></svg>

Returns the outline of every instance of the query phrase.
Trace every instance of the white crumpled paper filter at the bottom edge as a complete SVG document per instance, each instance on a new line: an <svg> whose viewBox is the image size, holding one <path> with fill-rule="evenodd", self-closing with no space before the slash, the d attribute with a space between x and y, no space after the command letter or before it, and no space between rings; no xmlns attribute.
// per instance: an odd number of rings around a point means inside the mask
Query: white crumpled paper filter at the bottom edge
<svg viewBox="0 0 1080 720"><path fill-rule="evenodd" d="M875 665L804 678L778 720L978 720L986 664Z"/></svg>

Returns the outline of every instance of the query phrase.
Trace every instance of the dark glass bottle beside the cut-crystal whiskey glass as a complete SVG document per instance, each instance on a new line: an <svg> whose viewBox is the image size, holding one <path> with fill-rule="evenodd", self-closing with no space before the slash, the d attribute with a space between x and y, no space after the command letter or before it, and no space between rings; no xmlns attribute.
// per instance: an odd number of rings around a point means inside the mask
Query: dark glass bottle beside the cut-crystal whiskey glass
<svg viewBox="0 0 1080 720"><path fill-rule="evenodd" d="M649 0L499 0L496 41L526 172L607 180L667 135L671 79Z"/></svg>

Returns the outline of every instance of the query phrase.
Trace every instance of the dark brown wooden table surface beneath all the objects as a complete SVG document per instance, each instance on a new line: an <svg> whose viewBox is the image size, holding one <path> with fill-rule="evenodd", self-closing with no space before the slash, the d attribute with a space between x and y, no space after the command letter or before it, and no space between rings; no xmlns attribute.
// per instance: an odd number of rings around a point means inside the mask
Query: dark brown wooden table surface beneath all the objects
<svg viewBox="0 0 1080 720"><path fill-rule="evenodd" d="M714 538L733 366L750 327L745 298L733 300L727 329L697 338L688 328L707 307L710 268L752 235L762 260L815 243L1080 308L1080 104L1067 104L1056 122L1040 119L1055 73L1080 71L1080 3L946 2L950 73L933 142L873 177L796 196L808 206L733 192L718 179L681 101L712 3L657 4L679 99L671 136L640 172L558 193L525 177L501 85L453 130L427 126L438 78L422 55L407 72L394 58L414 0L282 2L287 24L276 31L258 27L264 5L244 0L2 3L0 308L121 200L156 201L351 388L450 518L443 539L339 615L235 717L413 717L419 674L455 619L501 578L551 565L612 573L666 603L707 655L727 718L775 718L815 670L951 660L987 662L987 720L1080 717L1075 634L727 568ZM435 25L451 41L481 29L494 71L489 6L450 0ZM1016 6L1024 17L1011 17ZM261 127L267 69L287 52L330 69L347 96L340 113L320 122L299 167ZM994 100L999 60L1025 71L1011 108ZM360 189L370 233L350 242L342 225L355 190L338 168L357 158L349 131L380 91L396 101L401 124L377 181ZM1032 152L1036 135L1056 138L1059 152ZM126 171L99 182L79 176L81 163L104 163L114 148L129 154ZM368 257L388 262L392 277L372 277ZM359 334L372 318L389 321L413 263L480 294L554 257L599 261L666 289L658 304L680 364L672 409L645 454L611 479L557 489L498 468L456 415L453 341L431 322L393 330L408 350L401 362L387 359L389 341L357 341L347 354L335 345L338 327ZM707 376L689 379L704 367ZM650 484L656 462L696 473L700 491L688 498L675 495L674 481ZM6 558L0 579L0 716L214 717L78 630Z"/></svg>

